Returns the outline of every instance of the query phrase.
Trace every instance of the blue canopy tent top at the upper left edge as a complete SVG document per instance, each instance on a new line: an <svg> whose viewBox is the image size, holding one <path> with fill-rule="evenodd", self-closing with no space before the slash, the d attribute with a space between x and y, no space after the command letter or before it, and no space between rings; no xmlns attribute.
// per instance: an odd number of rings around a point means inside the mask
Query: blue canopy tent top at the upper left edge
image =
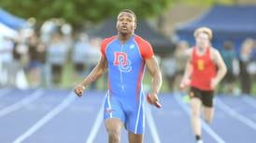
<svg viewBox="0 0 256 143"><path fill-rule="evenodd" d="M19 30L26 25L26 20L22 20L21 18L8 13L3 8L0 8L0 22L13 30Z"/></svg>

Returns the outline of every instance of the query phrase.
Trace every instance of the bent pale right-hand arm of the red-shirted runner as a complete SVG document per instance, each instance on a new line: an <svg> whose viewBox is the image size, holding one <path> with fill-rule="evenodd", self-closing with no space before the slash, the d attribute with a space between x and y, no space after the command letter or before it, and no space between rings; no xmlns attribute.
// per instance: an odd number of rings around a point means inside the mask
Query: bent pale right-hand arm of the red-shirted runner
<svg viewBox="0 0 256 143"><path fill-rule="evenodd" d="M213 52L213 59L217 65L217 74L215 76L215 78L211 81L211 87L214 89L216 87L217 84L220 83L220 81L222 80L222 78L225 76L226 72L227 72L227 67L223 61L223 58L221 58L220 56L220 52L216 49L214 49Z"/></svg>

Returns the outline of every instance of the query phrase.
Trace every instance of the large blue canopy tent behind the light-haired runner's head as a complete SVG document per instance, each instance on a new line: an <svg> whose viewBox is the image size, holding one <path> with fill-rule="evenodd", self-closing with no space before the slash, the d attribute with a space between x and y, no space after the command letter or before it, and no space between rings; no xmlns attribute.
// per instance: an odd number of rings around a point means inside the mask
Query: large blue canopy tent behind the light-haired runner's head
<svg viewBox="0 0 256 143"><path fill-rule="evenodd" d="M256 6L212 7L198 20L179 26L176 33L180 40L194 45L193 31L201 26L213 31L213 46L221 48L224 41L230 40L235 43L236 52L239 52L246 38L256 39Z"/></svg>

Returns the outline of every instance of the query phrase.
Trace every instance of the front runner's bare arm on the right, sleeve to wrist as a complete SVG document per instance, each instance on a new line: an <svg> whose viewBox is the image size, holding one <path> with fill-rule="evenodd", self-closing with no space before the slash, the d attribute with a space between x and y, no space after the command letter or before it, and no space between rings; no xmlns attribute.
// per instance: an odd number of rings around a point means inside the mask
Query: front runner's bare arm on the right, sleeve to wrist
<svg viewBox="0 0 256 143"><path fill-rule="evenodd" d="M146 65L149 68L149 73L152 75L152 90L150 95L151 97L155 98L151 99L156 100L157 94L159 93L162 86L162 73L154 56L152 58L146 59Z"/></svg>

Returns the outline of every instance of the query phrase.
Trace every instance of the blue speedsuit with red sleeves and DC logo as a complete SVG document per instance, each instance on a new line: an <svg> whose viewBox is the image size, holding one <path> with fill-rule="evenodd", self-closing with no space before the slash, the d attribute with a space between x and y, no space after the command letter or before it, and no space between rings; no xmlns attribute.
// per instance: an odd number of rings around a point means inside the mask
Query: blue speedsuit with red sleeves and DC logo
<svg viewBox="0 0 256 143"><path fill-rule="evenodd" d="M143 134L145 126L142 79L145 59L152 58L149 42L133 35L125 44L118 36L104 39L101 52L107 58L109 87L104 118L118 118L126 129Z"/></svg>

